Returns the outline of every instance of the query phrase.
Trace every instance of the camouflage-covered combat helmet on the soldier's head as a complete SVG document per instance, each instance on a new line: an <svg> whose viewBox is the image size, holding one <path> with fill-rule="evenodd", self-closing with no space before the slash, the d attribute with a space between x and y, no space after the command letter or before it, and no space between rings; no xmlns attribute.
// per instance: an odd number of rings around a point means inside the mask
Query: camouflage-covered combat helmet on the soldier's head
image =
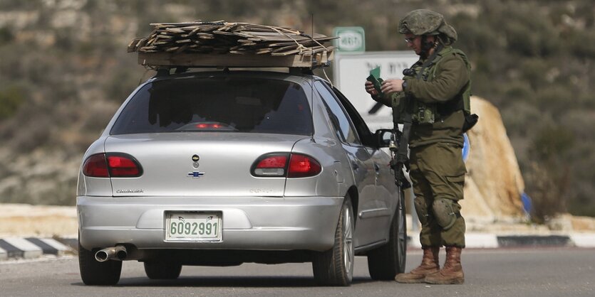
<svg viewBox="0 0 595 297"><path fill-rule="evenodd" d="M445 45L457 41L457 31L444 20L444 16L428 9L410 11L399 22L399 33L415 36L438 35Z"/></svg>

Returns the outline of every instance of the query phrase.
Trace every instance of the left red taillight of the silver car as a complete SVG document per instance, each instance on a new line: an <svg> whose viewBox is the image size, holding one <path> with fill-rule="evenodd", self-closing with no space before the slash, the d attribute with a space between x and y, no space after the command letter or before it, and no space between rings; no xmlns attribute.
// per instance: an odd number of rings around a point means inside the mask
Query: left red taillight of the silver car
<svg viewBox="0 0 595 297"><path fill-rule="evenodd" d="M135 178L143 175L143 168L125 153L97 153L85 161L83 174L93 178Z"/></svg>

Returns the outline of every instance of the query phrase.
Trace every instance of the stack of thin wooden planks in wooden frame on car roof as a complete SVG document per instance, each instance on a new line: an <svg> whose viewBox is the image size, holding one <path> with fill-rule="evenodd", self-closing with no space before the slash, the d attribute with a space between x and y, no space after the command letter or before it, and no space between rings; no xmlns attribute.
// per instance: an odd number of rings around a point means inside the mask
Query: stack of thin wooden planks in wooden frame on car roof
<svg viewBox="0 0 595 297"><path fill-rule="evenodd" d="M224 21L151 23L145 38L135 38L128 52L140 65L155 68L242 67L317 68L328 66L335 39L321 34L253 23Z"/></svg>

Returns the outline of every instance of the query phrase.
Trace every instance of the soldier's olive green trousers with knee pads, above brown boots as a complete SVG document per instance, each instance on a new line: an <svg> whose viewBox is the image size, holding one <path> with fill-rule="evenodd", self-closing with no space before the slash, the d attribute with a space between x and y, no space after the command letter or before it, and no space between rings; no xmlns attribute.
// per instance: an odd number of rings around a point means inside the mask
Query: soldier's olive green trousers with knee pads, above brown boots
<svg viewBox="0 0 595 297"><path fill-rule="evenodd" d="M465 219L458 203L467 172L461 147L438 143L411 148L410 165L422 247L465 247Z"/></svg>

